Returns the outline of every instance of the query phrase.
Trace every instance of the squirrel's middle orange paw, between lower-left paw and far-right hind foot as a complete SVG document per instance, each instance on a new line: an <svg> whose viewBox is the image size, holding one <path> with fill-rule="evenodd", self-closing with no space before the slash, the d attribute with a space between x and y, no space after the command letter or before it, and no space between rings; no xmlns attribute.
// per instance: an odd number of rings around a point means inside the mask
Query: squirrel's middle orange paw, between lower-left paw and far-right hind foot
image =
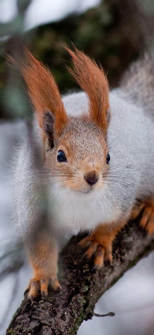
<svg viewBox="0 0 154 335"><path fill-rule="evenodd" d="M94 269L100 269L104 261L109 261L112 263L112 241L109 239L108 243L102 243L100 244L100 241L96 239L94 235L85 237L83 240L81 240L78 245L81 248L87 248L87 251L84 253L83 258L90 259L92 256L94 256Z"/></svg>

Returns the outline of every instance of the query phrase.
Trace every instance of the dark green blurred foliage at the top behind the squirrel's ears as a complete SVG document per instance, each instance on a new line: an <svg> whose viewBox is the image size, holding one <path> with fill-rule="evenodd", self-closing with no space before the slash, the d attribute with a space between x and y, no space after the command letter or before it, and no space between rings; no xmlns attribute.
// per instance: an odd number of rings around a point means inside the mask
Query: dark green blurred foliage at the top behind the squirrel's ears
<svg viewBox="0 0 154 335"><path fill-rule="evenodd" d="M36 27L23 33L23 17L29 0L18 0L18 16L10 23L1 25L3 35L13 34L13 38L2 44L2 51L19 52L23 42L33 55L46 64L54 75L59 89L65 93L76 88L67 73L69 64L64 52L64 44L72 47L71 42L83 49L90 57L100 62L108 72L110 85L115 87L132 59L144 49L144 39L139 23L138 12L128 0L106 0L99 6L83 14L68 17ZM134 0L134 4L135 4ZM136 15L134 15L134 10ZM29 105L21 89L21 78L12 74L4 65L0 53L0 114L1 117L14 118L27 116ZM6 80L7 77L7 80Z"/></svg>

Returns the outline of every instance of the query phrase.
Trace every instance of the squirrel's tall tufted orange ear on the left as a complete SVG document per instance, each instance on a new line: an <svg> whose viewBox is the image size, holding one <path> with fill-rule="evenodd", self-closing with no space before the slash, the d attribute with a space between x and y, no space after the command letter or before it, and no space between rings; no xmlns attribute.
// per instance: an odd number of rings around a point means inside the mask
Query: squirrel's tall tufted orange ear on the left
<svg viewBox="0 0 154 335"><path fill-rule="evenodd" d="M36 118L44 130L46 113L54 120L55 136L60 135L67 122L60 92L50 71L45 68L32 54L23 47L23 57L15 59L7 56L9 63L13 63L21 72L27 85L28 94L34 106ZM46 132L46 130L44 130Z"/></svg>

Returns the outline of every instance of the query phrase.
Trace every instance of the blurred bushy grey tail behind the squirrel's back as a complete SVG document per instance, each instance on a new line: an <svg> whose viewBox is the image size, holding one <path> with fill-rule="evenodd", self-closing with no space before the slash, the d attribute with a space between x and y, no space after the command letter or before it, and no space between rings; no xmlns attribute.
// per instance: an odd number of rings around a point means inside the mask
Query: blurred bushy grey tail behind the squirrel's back
<svg viewBox="0 0 154 335"><path fill-rule="evenodd" d="M132 63L120 87L126 98L154 117L154 59L149 54Z"/></svg>

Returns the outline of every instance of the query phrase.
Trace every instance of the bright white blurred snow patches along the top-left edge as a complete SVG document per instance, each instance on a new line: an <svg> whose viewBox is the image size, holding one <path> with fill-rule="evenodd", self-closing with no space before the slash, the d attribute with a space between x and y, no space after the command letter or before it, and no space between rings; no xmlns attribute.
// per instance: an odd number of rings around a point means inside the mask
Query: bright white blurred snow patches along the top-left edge
<svg viewBox="0 0 154 335"><path fill-rule="evenodd" d="M84 12L94 7L100 0L32 0L25 18L25 30L37 25L60 20L72 12ZM0 22L8 22L17 15L16 0L0 0Z"/></svg>

